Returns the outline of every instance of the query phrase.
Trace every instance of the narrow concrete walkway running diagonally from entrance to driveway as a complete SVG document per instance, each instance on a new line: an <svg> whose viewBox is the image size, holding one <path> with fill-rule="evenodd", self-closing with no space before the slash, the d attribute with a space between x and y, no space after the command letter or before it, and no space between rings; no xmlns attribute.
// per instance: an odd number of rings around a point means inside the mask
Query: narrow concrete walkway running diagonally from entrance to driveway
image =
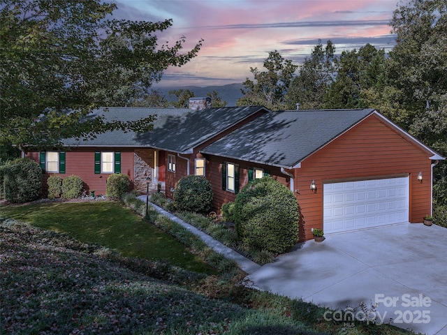
<svg viewBox="0 0 447 335"><path fill-rule="evenodd" d="M146 201L146 195L140 195L138 198L143 201ZM249 260L248 258L245 258L240 253L234 251L232 248L228 248L228 246L221 244L221 242L216 241L215 239L210 237L210 235L205 234L205 232L202 232L201 230L198 230L193 225L184 222L180 218L177 218L177 216L174 216L173 214L170 214L168 211L162 209L161 207L156 206L156 204L152 204L151 202L149 202L149 205L152 206L154 209L156 209L156 211L158 211L160 214L163 214L164 216L170 218L170 220L178 223L179 225L182 225L184 228L186 228L193 234L196 234L198 237L200 237L200 239L202 239L208 246L213 248L213 250L216 251L217 253L221 253L230 260L235 260L235 262L237 262L237 265L239 265L240 269L242 269L242 271L247 272L247 274L252 274L254 271L261 268L260 265Z"/></svg>

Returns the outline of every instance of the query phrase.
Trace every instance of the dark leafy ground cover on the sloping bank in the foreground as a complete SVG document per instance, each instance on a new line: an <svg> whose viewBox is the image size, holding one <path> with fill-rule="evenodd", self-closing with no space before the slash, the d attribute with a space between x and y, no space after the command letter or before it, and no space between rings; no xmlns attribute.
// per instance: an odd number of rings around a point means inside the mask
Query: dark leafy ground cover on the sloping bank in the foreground
<svg viewBox="0 0 447 335"><path fill-rule="evenodd" d="M1 334L409 334L9 219L0 237Z"/></svg>

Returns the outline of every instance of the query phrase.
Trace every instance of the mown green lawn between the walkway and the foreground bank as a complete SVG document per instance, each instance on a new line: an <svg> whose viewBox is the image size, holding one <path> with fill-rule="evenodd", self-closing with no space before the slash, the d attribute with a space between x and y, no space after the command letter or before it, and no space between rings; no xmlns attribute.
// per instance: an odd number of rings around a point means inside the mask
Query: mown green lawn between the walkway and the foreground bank
<svg viewBox="0 0 447 335"><path fill-rule="evenodd" d="M124 257L167 260L183 269L216 273L174 237L145 222L119 202L1 205L0 217L64 232L79 241L111 248Z"/></svg>

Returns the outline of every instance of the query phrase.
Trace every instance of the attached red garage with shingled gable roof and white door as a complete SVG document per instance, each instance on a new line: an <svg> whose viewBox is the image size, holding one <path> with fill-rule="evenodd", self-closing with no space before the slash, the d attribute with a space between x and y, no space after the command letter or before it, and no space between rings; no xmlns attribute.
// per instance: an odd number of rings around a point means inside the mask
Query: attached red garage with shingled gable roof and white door
<svg viewBox="0 0 447 335"><path fill-rule="evenodd" d="M395 223L432 213L432 169L439 160L375 110L268 112L203 148L215 210L235 200L221 187L222 162L268 170L300 205L300 241ZM217 199L217 201L216 201Z"/></svg>

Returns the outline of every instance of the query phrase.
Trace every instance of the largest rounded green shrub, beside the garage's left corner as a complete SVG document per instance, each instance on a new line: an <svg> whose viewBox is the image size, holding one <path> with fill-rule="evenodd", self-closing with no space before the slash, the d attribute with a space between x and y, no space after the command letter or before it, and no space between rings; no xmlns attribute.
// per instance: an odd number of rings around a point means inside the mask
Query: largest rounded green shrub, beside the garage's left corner
<svg viewBox="0 0 447 335"><path fill-rule="evenodd" d="M284 253L298 241L298 202L292 191L271 177L242 188L234 218L237 236L256 250Z"/></svg>

